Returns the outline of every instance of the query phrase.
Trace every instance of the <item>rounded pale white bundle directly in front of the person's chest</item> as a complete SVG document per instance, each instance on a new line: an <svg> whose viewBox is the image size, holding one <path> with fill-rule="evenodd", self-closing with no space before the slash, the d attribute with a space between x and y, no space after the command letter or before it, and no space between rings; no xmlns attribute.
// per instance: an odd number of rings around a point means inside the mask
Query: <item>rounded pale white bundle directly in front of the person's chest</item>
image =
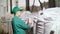
<svg viewBox="0 0 60 34"><path fill-rule="evenodd" d="M21 15L22 20L24 20L27 24L27 20L29 19L29 23L32 23L30 27L33 27L33 17L29 11L24 11Z"/></svg>

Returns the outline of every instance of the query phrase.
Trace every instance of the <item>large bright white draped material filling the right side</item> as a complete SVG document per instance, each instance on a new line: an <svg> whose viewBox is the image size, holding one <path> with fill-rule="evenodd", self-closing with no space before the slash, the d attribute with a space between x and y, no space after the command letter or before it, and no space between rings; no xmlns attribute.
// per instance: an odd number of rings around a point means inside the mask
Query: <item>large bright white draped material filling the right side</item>
<svg viewBox="0 0 60 34"><path fill-rule="evenodd" d="M54 34L60 34L60 8L48 8L43 11L43 15L47 20L52 19L45 24L45 34L50 34L51 30L55 31Z"/></svg>

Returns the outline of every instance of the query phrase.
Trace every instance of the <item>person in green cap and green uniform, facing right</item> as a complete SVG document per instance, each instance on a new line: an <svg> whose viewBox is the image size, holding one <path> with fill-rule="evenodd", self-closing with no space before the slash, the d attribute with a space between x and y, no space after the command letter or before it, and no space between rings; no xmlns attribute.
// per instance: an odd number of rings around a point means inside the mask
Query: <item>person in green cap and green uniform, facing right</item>
<svg viewBox="0 0 60 34"><path fill-rule="evenodd" d="M30 27L29 25L25 24L24 21L21 20L20 15L22 9L19 7L13 8L14 17L12 18L12 29L13 34L26 34L25 30L28 30Z"/></svg>

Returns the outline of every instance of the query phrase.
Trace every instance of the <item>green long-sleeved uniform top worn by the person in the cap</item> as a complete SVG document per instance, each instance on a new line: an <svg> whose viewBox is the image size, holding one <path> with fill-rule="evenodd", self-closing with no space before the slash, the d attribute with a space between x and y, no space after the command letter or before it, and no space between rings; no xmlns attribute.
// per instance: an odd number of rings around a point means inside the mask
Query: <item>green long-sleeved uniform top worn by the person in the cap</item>
<svg viewBox="0 0 60 34"><path fill-rule="evenodd" d="M25 30L30 27L21 20L21 18L14 16L12 19L13 34L26 34Z"/></svg>

